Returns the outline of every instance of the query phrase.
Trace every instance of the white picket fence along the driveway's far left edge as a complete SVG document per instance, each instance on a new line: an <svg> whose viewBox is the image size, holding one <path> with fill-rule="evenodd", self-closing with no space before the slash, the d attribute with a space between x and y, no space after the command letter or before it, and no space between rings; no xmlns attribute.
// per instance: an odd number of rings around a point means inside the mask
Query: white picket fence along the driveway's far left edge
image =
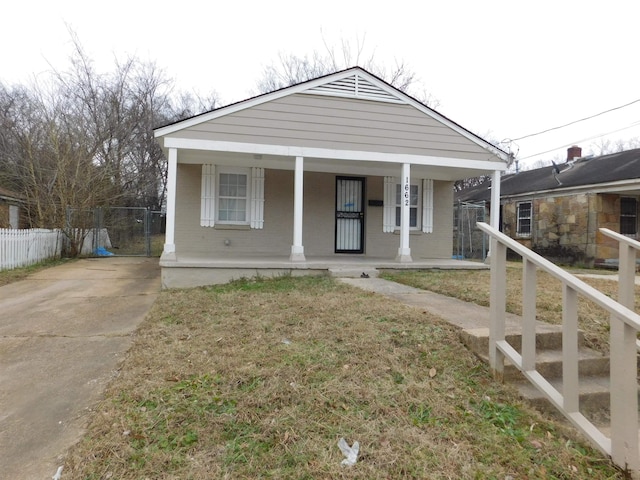
<svg viewBox="0 0 640 480"><path fill-rule="evenodd" d="M63 240L61 230L0 228L0 271L59 257Z"/></svg>

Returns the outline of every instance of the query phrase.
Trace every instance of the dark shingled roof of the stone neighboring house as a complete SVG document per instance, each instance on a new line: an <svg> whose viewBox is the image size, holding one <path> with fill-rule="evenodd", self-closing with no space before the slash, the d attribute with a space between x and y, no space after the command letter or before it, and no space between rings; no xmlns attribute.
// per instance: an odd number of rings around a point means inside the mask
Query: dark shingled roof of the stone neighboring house
<svg viewBox="0 0 640 480"><path fill-rule="evenodd" d="M504 175L500 180L500 196L563 192L580 187L597 190L621 182L640 190L640 148ZM457 192L456 199L488 201L490 196L490 183L485 182Z"/></svg>

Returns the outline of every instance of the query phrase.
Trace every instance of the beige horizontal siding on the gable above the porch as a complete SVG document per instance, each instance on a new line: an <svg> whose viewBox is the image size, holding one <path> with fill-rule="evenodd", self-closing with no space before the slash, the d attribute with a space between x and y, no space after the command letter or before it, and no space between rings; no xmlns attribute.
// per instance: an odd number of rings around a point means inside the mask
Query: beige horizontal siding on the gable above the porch
<svg viewBox="0 0 640 480"><path fill-rule="evenodd" d="M474 160L491 156L410 105L305 94L266 102L168 136Z"/></svg>

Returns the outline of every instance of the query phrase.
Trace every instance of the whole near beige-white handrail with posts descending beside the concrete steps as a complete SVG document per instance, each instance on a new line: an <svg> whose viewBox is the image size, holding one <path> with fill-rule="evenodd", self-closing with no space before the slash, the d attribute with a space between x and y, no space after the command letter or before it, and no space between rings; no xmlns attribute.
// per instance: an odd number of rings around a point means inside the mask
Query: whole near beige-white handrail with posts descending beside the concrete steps
<svg viewBox="0 0 640 480"><path fill-rule="evenodd" d="M625 299L626 303L616 302L486 223L479 222L478 227L491 238L489 361L495 375L502 378L504 359L507 358L599 450L610 455L614 463L624 469L640 472L635 348L637 332L640 330L640 315L632 310L633 304L629 304L628 299ZM505 339L507 249L516 252L523 261L521 354ZM627 254L629 252L625 253ZM562 392L536 369L536 268L542 269L562 282ZM631 284L633 285L633 280ZM611 319L611 433L609 437L580 412L579 295L602 307L609 313ZM633 301L633 290L631 301Z"/></svg>

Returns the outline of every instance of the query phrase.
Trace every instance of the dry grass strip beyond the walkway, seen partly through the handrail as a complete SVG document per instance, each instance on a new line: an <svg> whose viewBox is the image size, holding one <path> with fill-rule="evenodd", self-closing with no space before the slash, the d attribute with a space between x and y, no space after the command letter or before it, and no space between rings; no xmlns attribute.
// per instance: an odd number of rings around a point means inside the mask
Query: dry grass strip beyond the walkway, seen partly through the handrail
<svg viewBox="0 0 640 480"><path fill-rule="evenodd" d="M587 273L580 270L577 273ZM600 270L590 273L600 274ZM606 275L606 273L605 273ZM489 306L490 278L488 270L424 270L385 273L384 278L424 290L456 297L466 302ZM612 298L618 296L618 282L600 278L581 278ZM636 305L640 305L640 286L636 286ZM522 314L522 263L507 265L507 304L510 313ZM537 274L536 313L540 321L562 323L562 284L551 275ZM584 331L585 343L603 353L609 351L609 316L604 309L579 297L578 323Z"/></svg>

